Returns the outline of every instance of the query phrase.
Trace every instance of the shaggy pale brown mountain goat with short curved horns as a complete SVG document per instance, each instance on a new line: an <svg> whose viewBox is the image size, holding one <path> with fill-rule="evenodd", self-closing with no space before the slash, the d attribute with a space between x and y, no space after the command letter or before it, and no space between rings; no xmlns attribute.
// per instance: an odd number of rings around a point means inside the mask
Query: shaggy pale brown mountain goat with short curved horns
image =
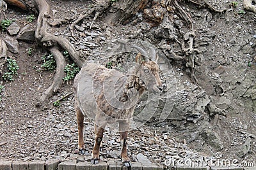
<svg viewBox="0 0 256 170"><path fill-rule="evenodd" d="M129 74L123 74L115 69L107 69L100 64L88 63L74 80L79 153L84 154L85 150L84 116L93 118L95 124L92 164L99 163L104 128L107 124L116 121L119 123L120 140L122 141L121 159L124 166L131 166L126 145L135 104L138 103L138 99L145 90L154 94L161 93L163 85L159 78L158 55L154 48L150 48L152 57L148 57L142 48L132 47L140 53L136 55L135 66L131 67Z"/></svg>

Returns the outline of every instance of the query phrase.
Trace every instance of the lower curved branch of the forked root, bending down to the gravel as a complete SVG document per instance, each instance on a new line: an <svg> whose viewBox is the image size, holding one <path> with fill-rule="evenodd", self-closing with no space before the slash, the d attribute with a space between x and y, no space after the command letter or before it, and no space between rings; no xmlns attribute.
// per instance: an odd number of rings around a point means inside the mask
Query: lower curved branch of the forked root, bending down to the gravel
<svg viewBox="0 0 256 170"><path fill-rule="evenodd" d="M39 102L36 104L36 106L40 106L44 108L45 101L51 96L52 92L57 92L63 82L63 77L65 76L64 68L66 66L66 61L62 55L62 53L56 48L52 47L49 49L49 51L53 54L54 59L56 60L56 73L54 76L54 80L51 84L51 86L43 92L42 96L39 99Z"/></svg>

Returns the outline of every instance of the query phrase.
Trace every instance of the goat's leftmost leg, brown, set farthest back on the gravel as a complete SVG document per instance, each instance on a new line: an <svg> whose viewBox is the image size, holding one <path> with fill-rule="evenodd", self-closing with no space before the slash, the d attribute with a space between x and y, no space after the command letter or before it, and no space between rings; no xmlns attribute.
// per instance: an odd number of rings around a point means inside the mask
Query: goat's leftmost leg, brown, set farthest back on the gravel
<svg viewBox="0 0 256 170"><path fill-rule="evenodd" d="M83 137L84 115L78 106L76 106L76 117L77 117L77 124L78 124L78 150L79 150L79 154L84 155L85 153L84 137Z"/></svg>

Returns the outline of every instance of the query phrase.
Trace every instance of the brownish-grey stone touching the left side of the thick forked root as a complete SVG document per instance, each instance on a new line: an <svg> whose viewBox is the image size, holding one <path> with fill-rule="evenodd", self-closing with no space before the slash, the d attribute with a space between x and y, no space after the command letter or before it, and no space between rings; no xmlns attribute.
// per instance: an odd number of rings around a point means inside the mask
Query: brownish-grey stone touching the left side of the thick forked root
<svg viewBox="0 0 256 170"><path fill-rule="evenodd" d="M26 25L20 30L19 34L17 35L17 39L26 43L35 42L35 27Z"/></svg>

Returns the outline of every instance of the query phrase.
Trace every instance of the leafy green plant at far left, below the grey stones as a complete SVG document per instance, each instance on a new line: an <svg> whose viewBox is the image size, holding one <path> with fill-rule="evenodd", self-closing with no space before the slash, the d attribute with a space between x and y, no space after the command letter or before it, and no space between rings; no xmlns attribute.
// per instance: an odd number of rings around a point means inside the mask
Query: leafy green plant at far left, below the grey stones
<svg viewBox="0 0 256 170"><path fill-rule="evenodd" d="M8 71L3 74L3 79L5 81L13 81L13 76L16 76L18 73L19 66L15 59L8 58L7 59L7 69Z"/></svg>

